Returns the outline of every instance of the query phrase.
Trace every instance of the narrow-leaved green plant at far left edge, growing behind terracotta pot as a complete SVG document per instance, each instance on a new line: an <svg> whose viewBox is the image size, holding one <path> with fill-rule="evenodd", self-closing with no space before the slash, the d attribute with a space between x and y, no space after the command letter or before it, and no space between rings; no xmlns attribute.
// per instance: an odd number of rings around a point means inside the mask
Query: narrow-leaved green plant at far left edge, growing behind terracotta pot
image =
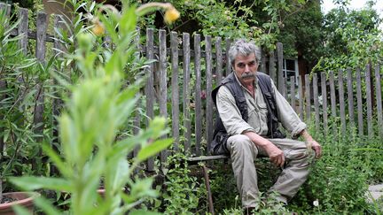
<svg viewBox="0 0 383 215"><path fill-rule="evenodd" d="M21 36L12 36L11 32L20 23L7 17L2 10L0 23L0 194L11 191L6 177L10 175L43 174L45 167L32 169L32 165L40 163L35 157L40 149L35 142L32 130L32 117L29 110L33 107L35 93L35 77L38 64L20 50ZM40 161L40 162L39 162ZM4 184L2 184L4 182ZM0 195L1 196L1 195Z"/></svg>

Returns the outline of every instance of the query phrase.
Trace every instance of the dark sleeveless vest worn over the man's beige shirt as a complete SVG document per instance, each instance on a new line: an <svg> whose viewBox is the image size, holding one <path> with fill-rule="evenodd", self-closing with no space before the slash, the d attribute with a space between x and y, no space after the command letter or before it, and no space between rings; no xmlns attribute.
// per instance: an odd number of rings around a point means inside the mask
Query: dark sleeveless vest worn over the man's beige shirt
<svg viewBox="0 0 383 215"><path fill-rule="evenodd" d="M279 126L279 122L277 119L277 103L275 100L275 95L271 86L270 76L264 73L257 72L256 77L258 79L258 86L261 88L263 99L266 103L268 113L267 113L267 125L268 125L268 134L265 137L267 138L285 138L285 134L281 133L277 127ZM216 95L218 93L218 89L222 86L228 88L231 92L231 95L234 97L236 105L239 109L239 112L246 122L248 120L248 112L247 112L247 104L246 97L243 92L243 89L239 85L234 73L230 73L221 84L213 89L212 98L213 102L216 106ZM223 121L220 118L219 114L217 114L215 120L215 131L213 134L213 142L210 144L210 153L212 155L223 155L230 154L229 150L226 149L226 142L229 138L229 134L227 134L225 127L223 126Z"/></svg>

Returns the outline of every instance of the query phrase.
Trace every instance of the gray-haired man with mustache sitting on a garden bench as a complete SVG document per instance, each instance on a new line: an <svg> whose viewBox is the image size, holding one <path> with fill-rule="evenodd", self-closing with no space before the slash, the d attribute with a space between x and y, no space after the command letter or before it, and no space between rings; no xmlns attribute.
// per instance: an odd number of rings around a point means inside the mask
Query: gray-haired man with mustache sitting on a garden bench
<svg viewBox="0 0 383 215"><path fill-rule="evenodd" d="M270 188L277 201L287 203L309 175L309 151L316 157L322 150L306 130L306 124L277 91L273 81L257 73L259 58L254 42L238 40L229 50L233 73L212 92L219 113L211 153L230 154L231 165L244 208L259 202L254 159L270 157L270 162L283 171ZM278 130L281 123L292 137L302 136L305 142L285 139Z"/></svg>

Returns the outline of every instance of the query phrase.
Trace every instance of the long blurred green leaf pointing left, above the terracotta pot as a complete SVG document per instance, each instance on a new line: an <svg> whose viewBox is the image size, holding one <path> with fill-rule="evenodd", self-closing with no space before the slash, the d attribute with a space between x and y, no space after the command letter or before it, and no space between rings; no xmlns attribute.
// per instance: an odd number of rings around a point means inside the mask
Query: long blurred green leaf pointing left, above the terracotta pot
<svg viewBox="0 0 383 215"><path fill-rule="evenodd" d="M58 191L65 190L69 192L72 190L71 183L68 180L59 178L26 176L22 178L10 177L9 180L12 184L26 190L35 190L39 188L48 188Z"/></svg>

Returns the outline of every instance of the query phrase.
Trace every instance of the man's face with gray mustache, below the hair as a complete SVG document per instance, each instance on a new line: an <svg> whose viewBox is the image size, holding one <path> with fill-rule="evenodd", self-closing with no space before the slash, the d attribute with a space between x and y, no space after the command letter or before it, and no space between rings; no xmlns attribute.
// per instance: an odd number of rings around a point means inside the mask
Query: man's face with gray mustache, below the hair
<svg viewBox="0 0 383 215"><path fill-rule="evenodd" d="M237 74L238 80L244 85L253 84L255 73L258 69L258 63L255 54L248 56L239 55L234 59L234 72Z"/></svg>

